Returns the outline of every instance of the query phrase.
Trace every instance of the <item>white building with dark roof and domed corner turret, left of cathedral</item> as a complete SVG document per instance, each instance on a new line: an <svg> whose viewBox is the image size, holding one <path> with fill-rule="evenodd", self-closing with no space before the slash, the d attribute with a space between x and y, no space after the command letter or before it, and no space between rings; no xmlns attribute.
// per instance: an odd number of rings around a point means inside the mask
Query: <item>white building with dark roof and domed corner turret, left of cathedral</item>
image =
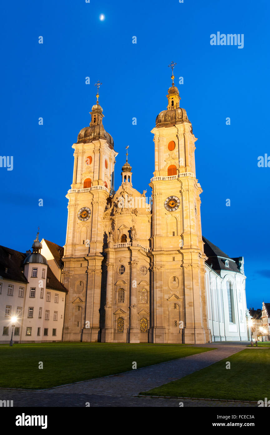
<svg viewBox="0 0 270 435"><path fill-rule="evenodd" d="M40 253L38 234L32 248L24 254L0 246L0 343L10 341L12 325L14 342L62 340L67 290Z"/></svg>

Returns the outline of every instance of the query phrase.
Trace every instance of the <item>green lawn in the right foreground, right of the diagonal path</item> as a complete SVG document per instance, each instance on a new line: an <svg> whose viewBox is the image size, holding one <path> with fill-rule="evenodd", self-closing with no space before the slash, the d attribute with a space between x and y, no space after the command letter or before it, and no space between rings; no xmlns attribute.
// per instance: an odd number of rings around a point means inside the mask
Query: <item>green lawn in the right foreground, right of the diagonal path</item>
<svg viewBox="0 0 270 435"><path fill-rule="evenodd" d="M226 369L230 361L230 369ZM270 400L270 351L244 349L178 381L141 394L234 400Z"/></svg>

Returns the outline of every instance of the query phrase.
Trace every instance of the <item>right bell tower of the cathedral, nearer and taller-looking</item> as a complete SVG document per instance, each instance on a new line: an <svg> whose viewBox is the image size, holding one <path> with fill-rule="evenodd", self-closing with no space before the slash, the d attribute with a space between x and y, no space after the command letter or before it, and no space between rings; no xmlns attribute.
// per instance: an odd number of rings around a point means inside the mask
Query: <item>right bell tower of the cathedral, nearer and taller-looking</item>
<svg viewBox="0 0 270 435"><path fill-rule="evenodd" d="M201 186L195 174L195 141L178 88L168 89L167 110L151 130L155 143L152 188L151 328L154 343L205 343L207 325L201 236Z"/></svg>

